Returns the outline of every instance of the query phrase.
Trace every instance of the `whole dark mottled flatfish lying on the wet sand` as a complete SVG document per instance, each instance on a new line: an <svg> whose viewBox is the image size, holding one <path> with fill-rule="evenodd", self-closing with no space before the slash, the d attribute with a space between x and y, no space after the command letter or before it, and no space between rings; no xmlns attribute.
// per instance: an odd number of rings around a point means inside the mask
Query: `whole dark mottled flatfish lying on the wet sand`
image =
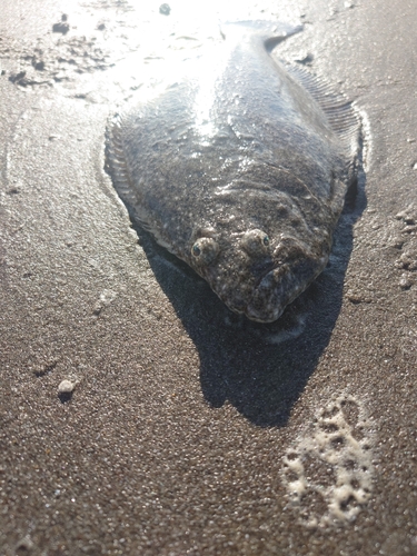
<svg viewBox="0 0 417 556"><path fill-rule="evenodd" d="M270 54L297 30L227 26L221 47L107 132L107 166L132 217L260 322L326 267L356 172L353 112L345 106L331 125L320 91Z"/></svg>

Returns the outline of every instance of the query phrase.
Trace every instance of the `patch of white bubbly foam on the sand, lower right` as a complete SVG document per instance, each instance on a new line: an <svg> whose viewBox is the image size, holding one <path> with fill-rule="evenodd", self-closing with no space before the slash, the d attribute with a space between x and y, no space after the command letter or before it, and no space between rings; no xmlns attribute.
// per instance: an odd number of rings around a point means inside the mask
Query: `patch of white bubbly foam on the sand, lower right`
<svg viewBox="0 0 417 556"><path fill-rule="evenodd" d="M308 527L354 520L370 497L373 430L363 405L340 396L321 408L284 456L289 506Z"/></svg>

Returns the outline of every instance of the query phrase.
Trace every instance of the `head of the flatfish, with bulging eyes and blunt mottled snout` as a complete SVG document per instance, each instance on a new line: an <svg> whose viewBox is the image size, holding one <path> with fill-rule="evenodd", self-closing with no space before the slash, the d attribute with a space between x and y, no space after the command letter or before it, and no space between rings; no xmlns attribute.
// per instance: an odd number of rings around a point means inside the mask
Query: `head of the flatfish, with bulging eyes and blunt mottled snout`
<svg viewBox="0 0 417 556"><path fill-rule="evenodd" d="M235 199L235 216L230 211L229 218L193 234L187 262L234 312L271 322L326 267L331 241L326 227L308 228L299 210L285 208L282 199L257 195L251 203L257 218L245 216L249 198L246 193L238 210Z"/></svg>

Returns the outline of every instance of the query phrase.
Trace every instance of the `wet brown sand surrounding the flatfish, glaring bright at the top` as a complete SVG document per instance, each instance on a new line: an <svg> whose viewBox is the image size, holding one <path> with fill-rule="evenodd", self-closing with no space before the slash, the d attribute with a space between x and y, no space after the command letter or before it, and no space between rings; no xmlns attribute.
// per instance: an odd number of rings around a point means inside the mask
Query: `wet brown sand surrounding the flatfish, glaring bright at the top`
<svg viewBox="0 0 417 556"><path fill-rule="evenodd" d="M170 36L171 8L3 2L0 554L417 554L415 6L248 13L304 21L276 56L355 100L367 147L329 267L268 326L131 228L103 171L158 56L219 40Z"/></svg>

